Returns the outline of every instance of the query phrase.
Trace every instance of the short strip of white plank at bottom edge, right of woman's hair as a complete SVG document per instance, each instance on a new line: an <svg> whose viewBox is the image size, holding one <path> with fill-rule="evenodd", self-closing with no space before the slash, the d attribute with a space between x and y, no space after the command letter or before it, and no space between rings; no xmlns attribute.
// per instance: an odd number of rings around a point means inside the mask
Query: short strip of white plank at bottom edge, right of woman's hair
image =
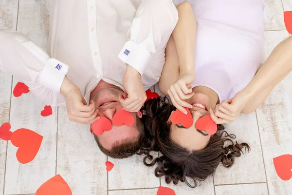
<svg viewBox="0 0 292 195"><path fill-rule="evenodd" d="M215 186L215 191L216 195L269 195L266 183Z"/></svg>

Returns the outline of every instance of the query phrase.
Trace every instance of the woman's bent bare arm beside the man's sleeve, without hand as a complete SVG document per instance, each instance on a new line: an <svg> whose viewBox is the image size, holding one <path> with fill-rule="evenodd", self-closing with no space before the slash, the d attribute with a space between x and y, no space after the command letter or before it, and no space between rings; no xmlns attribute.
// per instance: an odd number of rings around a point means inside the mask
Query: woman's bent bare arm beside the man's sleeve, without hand
<svg viewBox="0 0 292 195"><path fill-rule="evenodd" d="M177 10L179 21L168 40L165 64L158 82L160 91L166 96L167 90L179 78L180 72L195 72L196 20L189 2L179 4Z"/></svg>

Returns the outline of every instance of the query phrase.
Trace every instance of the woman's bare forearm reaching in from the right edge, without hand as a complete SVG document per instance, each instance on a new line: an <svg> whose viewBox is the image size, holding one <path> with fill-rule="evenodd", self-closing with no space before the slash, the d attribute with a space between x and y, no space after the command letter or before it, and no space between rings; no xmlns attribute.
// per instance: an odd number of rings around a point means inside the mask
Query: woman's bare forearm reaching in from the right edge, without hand
<svg viewBox="0 0 292 195"><path fill-rule="evenodd" d="M269 96L274 87L292 71L292 37L280 42L256 76L242 91L249 101L241 113L254 112Z"/></svg>

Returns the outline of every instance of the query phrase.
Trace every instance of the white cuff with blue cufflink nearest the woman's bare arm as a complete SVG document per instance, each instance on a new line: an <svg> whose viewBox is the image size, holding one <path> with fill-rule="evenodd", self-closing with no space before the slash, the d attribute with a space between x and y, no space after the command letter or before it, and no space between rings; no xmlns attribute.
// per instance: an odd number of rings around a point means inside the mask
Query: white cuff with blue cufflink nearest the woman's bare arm
<svg viewBox="0 0 292 195"><path fill-rule="evenodd" d="M139 44L129 40L125 43L118 58L135 68L142 76L150 63L151 54Z"/></svg>

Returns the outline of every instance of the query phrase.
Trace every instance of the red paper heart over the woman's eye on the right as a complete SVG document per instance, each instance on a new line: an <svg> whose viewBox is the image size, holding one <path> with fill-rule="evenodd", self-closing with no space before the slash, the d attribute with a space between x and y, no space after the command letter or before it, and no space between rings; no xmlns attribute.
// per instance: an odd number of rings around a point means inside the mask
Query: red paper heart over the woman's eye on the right
<svg viewBox="0 0 292 195"><path fill-rule="evenodd" d="M201 117L196 122L196 129L206 131L208 135L214 135L217 132L217 124L212 120L210 115Z"/></svg>

